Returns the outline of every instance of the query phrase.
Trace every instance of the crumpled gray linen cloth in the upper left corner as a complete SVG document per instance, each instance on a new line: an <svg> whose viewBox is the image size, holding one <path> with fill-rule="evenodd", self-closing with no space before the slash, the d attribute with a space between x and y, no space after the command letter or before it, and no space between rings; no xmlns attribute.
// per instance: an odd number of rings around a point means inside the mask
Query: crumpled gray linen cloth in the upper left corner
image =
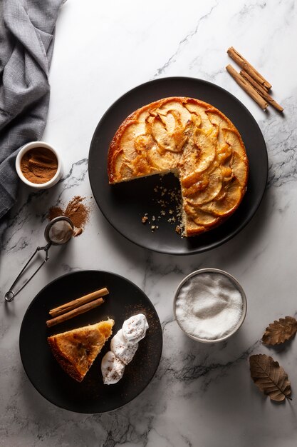
<svg viewBox="0 0 297 447"><path fill-rule="evenodd" d="M53 33L64 1L0 0L0 246L18 191L16 155L46 126Z"/></svg>

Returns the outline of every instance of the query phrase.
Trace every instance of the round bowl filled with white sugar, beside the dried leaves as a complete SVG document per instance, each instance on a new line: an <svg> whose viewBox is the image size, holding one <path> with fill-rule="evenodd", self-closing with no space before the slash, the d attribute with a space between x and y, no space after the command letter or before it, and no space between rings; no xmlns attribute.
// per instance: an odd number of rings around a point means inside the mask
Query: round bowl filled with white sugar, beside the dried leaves
<svg viewBox="0 0 297 447"><path fill-rule="evenodd" d="M234 276L218 268L202 268L179 283L173 311L187 336L217 343L239 330L246 307L246 294Z"/></svg>

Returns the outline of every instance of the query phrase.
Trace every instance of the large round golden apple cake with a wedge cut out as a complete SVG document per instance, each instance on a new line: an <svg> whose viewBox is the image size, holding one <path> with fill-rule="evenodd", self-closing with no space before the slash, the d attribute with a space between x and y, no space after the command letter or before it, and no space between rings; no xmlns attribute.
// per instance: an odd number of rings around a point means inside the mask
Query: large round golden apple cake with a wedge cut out
<svg viewBox="0 0 297 447"><path fill-rule="evenodd" d="M249 162L234 124L198 99L160 99L127 116L108 151L110 184L173 172L185 236L222 224L246 192Z"/></svg>

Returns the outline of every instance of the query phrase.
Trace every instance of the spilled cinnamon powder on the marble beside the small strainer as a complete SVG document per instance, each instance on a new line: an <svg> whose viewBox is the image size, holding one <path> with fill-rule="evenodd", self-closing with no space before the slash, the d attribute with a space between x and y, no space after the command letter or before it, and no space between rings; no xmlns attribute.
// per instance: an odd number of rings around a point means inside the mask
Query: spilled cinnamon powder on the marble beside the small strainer
<svg viewBox="0 0 297 447"><path fill-rule="evenodd" d="M67 216L75 227L73 236L79 236L83 233L90 215L90 206L85 205L83 203L84 200L85 197L74 196L65 209L62 209L60 206L52 206L48 211L48 220L51 221L58 216Z"/></svg>

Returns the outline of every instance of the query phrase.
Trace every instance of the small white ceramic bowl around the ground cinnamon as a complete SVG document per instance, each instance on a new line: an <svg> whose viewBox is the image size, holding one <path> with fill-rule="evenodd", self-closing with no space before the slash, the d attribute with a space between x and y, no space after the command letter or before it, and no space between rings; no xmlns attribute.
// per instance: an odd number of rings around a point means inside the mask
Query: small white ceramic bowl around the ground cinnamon
<svg viewBox="0 0 297 447"><path fill-rule="evenodd" d="M56 155L56 158L58 160L58 169L56 171L56 174L53 176L53 178L51 180L46 181L46 183L42 183L42 184L36 184L36 183L33 183L32 181L29 181L28 179L26 179L26 177L24 176L24 174L21 171L21 159L26 154L26 152L28 152L28 151L30 151L30 149L34 149L36 147L49 149L50 151L53 152L53 154ZM51 186L56 185L56 183L58 183L58 181L61 179L61 176L63 174L61 157L59 156L56 149L53 149L53 146L51 146L50 144L45 143L44 141L32 141L31 143L25 144L25 146L23 146L21 148L21 150L19 151L19 154L16 156L16 172L17 172L19 178L21 179L21 181L23 181L23 183L26 184L27 186L31 186L31 188L33 188L33 189L48 189L48 188L51 188Z"/></svg>

